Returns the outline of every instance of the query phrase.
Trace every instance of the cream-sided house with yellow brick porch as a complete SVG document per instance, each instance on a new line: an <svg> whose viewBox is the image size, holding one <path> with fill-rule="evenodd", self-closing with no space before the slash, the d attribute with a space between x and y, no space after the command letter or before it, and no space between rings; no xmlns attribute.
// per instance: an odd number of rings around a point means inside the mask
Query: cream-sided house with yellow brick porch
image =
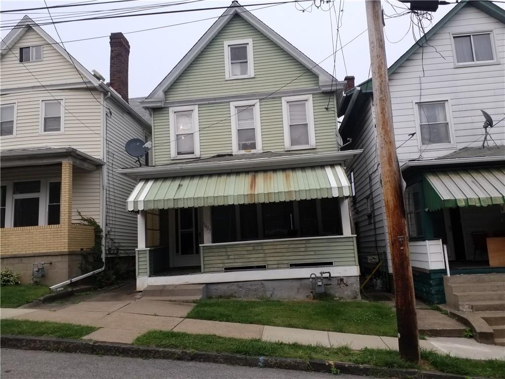
<svg viewBox="0 0 505 379"><path fill-rule="evenodd" d="M133 257L137 216L124 203L135 183L114 170L136 165L124 145L149 139L150 120L27 16L2 42L0 71L2 267L27 282L26 263L67 262L46 265L49 285L80 275L94 244L80 215L104 230L107 256Z"/></svg>

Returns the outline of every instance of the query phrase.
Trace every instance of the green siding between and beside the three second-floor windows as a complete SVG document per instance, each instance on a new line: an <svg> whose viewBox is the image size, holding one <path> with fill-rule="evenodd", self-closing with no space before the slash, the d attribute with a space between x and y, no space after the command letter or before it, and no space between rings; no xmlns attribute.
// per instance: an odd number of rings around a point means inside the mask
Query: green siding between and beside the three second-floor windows
<svg viewBox="0 0 505 379"><path fill-rule="evenodd" d="M307 152L336 151L336 120L333 111L333 94L314 93L312 98L316 148L308 149ZM330 109L326 110L328 98L330 98ZM260 103L260 118L263 151L283 152L284 127L281 98L263 100ZM198 105L198 123L201 158L232 153L230 103ZM170 163L169 108L155 109L154 134L156 165Z"/></svg>

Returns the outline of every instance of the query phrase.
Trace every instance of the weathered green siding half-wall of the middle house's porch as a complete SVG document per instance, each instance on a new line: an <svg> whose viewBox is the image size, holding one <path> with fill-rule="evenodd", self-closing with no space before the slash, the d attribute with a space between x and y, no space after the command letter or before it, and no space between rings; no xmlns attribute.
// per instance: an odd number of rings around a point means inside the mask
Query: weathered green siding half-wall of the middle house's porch
<svg viewBox="0 0 505 379"><path fill-rule="evenodd" d="M269 269L289 268L289 263L327 261L333 261L334 266L358 265L354 236L216 244L202 246L201 254L203 272L263 264Z"/></svg>

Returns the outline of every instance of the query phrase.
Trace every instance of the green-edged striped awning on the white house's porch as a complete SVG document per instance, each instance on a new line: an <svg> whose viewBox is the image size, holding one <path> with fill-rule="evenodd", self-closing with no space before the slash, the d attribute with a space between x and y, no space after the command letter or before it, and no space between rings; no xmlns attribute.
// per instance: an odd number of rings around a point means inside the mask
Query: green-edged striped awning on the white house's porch
<svg viewBox="0 0 505 379"><path fill-rule="evenodd" d="M442 208L505 204L505 168L433 171L424 174L425 205Z"/></svg>

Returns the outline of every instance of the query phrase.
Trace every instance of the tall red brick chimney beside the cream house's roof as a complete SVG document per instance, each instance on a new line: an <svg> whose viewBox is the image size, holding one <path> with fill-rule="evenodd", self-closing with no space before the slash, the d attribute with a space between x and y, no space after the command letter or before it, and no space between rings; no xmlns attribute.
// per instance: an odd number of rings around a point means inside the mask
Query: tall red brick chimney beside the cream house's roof
<svg viewBox="0 0 505 379"><path fill-rule="evenodd" d="M123 33L111 33L110 86L128 103L128 58L130 44Z"/></svg>

